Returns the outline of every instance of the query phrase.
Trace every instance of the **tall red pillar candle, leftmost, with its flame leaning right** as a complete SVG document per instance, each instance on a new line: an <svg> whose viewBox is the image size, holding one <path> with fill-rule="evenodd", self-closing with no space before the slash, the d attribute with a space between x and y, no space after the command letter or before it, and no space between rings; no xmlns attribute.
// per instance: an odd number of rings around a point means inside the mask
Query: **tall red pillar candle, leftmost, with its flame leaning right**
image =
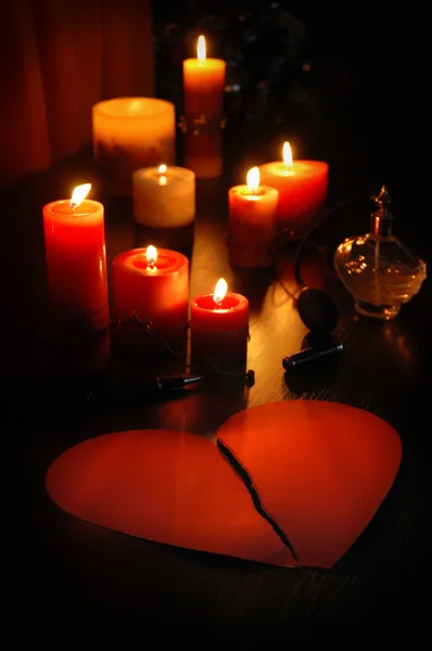
<svg viewBox="0 0 432 651"><path fill-rule="evenodd" d="M43 230L53 318L58 334L92 333L109 327L103 205L86 199L90 183L71 200L43 207Z"/></svg>

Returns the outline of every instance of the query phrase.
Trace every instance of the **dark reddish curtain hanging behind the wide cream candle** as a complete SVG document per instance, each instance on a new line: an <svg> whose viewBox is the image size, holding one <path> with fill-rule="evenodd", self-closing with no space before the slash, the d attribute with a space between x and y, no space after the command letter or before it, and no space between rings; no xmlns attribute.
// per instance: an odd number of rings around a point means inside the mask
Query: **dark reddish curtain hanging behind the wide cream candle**
<svg viewBox="0 0 432 651"><path fill-rule="evenodd" d="M153 94L150 0L3 0L0 184L91 142L101 99Z"/></svg>

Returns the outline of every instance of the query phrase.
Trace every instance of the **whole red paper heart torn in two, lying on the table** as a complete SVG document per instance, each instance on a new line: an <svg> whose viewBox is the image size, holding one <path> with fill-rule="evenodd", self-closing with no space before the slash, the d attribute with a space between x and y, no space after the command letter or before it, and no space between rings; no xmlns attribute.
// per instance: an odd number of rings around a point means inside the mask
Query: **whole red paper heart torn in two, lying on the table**
<svg viewBox="0 0 432 651"><path fill-rule="evenodd" d="M200 551L331 567L396 476L401 441L381 419L315 400L241 411L217 446L143 430L86 441L54 461L49 495L93 524Z"/></svg>

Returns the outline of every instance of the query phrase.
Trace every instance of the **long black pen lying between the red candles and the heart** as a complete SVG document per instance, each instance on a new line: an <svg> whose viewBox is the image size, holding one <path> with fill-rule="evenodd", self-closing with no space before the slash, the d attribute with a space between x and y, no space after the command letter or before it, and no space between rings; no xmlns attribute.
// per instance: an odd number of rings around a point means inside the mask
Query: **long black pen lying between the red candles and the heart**
<svg viewBox="0 0 432 651"><path fill-rule="evenodd" d="M134 384L125 384L122 386L112 386L101 390L89 390L85 393L86 401L89 405L97 403L106 403L110 400L123 400L135 397L154 396L157 394L185 388L189 384L201 382L203 375L174 375L171 378L152 378L135 382Z"/></svg>

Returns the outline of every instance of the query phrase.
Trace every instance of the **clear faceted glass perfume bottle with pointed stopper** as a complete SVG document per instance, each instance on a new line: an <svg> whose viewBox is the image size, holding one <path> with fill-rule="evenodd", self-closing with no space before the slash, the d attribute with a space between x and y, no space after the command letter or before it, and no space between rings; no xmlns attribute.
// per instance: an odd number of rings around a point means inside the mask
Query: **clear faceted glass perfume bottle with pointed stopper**
<svg viewBox="0 0 432 651"><path fill-rule="evenodd" d="M371 199L377 209L371 214L370 232L342 242L334 254L334 267L353 295L357 312L394 319L401 306L420 290L427 266L393 235L394 215L389 210L385 186Z"/></svg>

